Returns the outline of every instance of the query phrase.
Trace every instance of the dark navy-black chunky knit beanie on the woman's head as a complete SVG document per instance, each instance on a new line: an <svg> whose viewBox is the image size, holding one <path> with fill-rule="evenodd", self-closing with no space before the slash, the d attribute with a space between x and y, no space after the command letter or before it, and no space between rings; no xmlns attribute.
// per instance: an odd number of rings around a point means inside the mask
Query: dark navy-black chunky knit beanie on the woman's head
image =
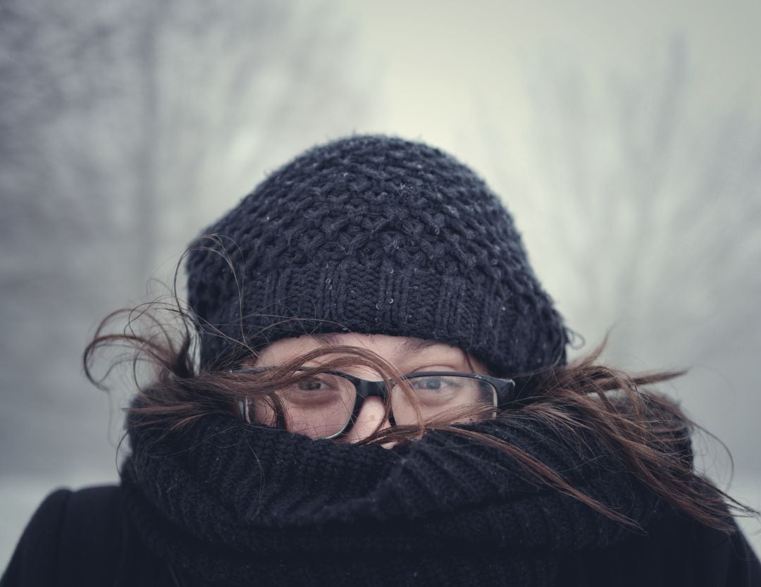
<svg viewBox="0 0 761 587"><path fill-rule="evenodd" d="M208 228L187 271L205 369L336 332L439 340L498 375L565 362L562 318L511 216L468 167L417 142L310 149Z"/></svg>

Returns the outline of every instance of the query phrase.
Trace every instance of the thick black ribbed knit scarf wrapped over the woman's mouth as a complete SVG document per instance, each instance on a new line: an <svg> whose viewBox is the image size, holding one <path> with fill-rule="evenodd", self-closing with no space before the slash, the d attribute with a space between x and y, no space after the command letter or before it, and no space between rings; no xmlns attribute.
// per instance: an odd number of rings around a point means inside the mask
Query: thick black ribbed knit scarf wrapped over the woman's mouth
<svg viewBox="0 0 761 587"><path fill-rule="evenodd" d="M642 527L658 499L594 439L534 416L470 426ZM631 530L444 432L387 449L208 416L133 425L123 468L145 545L193 585L552 585L558 561Z"/></svg>

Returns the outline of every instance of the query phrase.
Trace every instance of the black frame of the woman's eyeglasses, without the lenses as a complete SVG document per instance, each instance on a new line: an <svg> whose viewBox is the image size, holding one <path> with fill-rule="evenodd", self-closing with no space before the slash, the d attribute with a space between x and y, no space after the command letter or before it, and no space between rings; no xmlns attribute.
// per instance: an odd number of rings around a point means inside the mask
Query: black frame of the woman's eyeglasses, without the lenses
<svg viewBox="0 0 761 587"><path fill-rule="evenodd" d="M243 369L234 369L231 372L232 373L263 373L266 371L272 371L277 367L252 367L252 368L243 368ZM354 400L354 407L352 408L352 413L349 416L349 420L346 420L346 423L344 424L343 428L339 430L339 432L336 432L333 435L330 436L323 436L321 439L324 440L332 440L332 439L339 439L343 435L347 434L349 430L352 429L352 426L354 426L358 416L359 412L362 409L362 406L365 404L365 400L368 397L380 397L380 400L384 402L384 405L389 400L391 389L396 385L396 381L393 380L393 378L387 379L387 380L380 380L380 381L370 381L368 379L362 379L359 377L355 377L354 375L349 375L349 373L344 373L341 371L332 371L327 370L323 371L320 370L320 368L317 367L299 367L295 369L296 371L312 371L314 370L317 373L328 373L330 375L337 375L338 377L342 377L346 379L347 381L350 381L352 384L354 384L354 389L356 391L356 397ZM507 404L509 404L512 400L515 398L512 397L513 393L515 391L515 381L512 379L506 379L506 378L498 378L498 377L492 377L491 375L480 375L479 373L463 373L463 372L457 372L457 371L422 371L417 373L408 373L407 375L402 375L403 381L409 381L410 379L416 379L416 378L422 378L422 377L466 377L470 379L476 379L478 381L484 381L492 386L492 388L495 389L495 392L497 394L497 403L495 405L495 410L499 410L502 407L505 407ZM246 423L252 423L250 418L250 400L247 398L245 400L240 400L238 402L238 409L240 410L240 417L246 422ZM391 424L395 424L393 421L393 412L389 412L389 419Z"/></svg>

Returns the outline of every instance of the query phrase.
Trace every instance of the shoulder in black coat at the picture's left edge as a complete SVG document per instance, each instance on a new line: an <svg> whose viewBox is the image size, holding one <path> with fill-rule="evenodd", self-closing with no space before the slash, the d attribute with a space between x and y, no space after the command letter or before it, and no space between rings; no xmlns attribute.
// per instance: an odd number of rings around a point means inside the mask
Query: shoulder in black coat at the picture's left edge
<svg viewBox="0 0 761 587"><path fill-rule="evenodd" d="M119 487L56 490L34 512L2 587L113 584L125 539Z"/></svg>

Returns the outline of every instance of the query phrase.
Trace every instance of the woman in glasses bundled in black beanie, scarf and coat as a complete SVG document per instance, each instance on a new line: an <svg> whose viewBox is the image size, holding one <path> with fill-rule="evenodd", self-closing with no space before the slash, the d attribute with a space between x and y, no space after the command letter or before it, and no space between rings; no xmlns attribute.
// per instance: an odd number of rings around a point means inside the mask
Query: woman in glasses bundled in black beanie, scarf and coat
<svg viewBox="0 0 761 587"><path fill-rule="evenodd" d="M761 585L642 388L677 374L567 365L510 215L437 149L304 153L187 277L179 340L86 353L158 369L122 483L49 496L3 585Z"/></svg>

